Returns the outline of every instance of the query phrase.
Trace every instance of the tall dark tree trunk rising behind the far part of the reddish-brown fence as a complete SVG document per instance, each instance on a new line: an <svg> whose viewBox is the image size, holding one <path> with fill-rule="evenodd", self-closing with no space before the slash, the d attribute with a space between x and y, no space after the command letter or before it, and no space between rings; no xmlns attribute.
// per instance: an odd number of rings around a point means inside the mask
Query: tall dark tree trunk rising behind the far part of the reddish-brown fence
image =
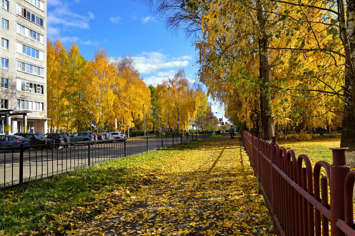
<svg viewBox="0 0 355 236"><path fill-rule="evenodd" d="M275 118L271 110L270 89L270 61L269 61L269 39L266 32L265 11L261 0L256 1L257 21L260 27L259 43L259 76L262 79L260 86L260 118L261 136L264 140L271 141L275 136Z"/></svg>

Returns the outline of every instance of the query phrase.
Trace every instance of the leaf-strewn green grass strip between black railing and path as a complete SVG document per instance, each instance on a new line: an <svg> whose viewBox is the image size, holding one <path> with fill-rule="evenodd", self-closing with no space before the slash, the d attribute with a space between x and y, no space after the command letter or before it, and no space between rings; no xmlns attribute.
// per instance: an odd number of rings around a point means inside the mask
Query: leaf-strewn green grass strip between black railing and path
<svg viewBox="0 0 355 236"><path fill-rule="evenodd" d="M0 192L0 235L63 235L77 222L91 219L110 204L149 184L142 165L159 169L166 158L203 145L205 139L107 161Z"/></svg>

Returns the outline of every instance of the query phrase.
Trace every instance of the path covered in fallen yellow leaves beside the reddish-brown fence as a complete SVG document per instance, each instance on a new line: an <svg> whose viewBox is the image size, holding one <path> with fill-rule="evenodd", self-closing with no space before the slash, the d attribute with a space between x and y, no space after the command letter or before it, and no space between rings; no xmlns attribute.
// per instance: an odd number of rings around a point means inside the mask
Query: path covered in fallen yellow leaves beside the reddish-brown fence
<svg viewBox="0 0 355 236"><path fill-rule="evenodd" d="M142 166L149 184L68 235L268 235L270 218L236 137ZM145 177L147 178L147 177Z"/></svg>

